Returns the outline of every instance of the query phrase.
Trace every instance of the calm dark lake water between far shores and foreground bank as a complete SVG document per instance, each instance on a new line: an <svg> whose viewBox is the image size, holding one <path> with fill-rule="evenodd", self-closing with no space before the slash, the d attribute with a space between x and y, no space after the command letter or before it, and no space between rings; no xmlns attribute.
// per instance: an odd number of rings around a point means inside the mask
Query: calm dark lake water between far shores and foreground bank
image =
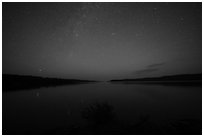
<svg viewBox="0 0 204 137"><path fill-rule="evenodd" d="M158 128L182 119L202 119L202 87L92 83L3 92L2 97L4 134L86 127L89 121L81 112L96 102L112 106L119 123L129 125L142 117Z"/></svg>

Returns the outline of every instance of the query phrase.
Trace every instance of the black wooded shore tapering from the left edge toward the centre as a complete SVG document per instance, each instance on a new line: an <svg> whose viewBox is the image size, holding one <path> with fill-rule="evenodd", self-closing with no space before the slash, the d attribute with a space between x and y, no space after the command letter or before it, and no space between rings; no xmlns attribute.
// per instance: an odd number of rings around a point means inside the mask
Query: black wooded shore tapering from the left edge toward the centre
<svg viewBox="0 0 204 137"><path fill-rule="evenodd" d="M94 82L91 80L77 80L77 79L59 79L59 78L44 78L38 76L24 76L3 74L2 75L2 89L3 91L33 89L40 87L50 87L66 84L82 84L86 82Z"/></svg>

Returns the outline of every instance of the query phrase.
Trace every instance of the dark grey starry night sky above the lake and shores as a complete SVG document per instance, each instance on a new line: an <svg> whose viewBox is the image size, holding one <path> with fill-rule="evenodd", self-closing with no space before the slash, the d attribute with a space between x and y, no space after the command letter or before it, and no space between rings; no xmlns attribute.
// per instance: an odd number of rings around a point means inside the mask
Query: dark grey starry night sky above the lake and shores
<svg viewBox="0 0 204 137"><path fill-rule="evenodd" d="M110 80L202 72L202 3L3 3L3 73Z"/></svg>

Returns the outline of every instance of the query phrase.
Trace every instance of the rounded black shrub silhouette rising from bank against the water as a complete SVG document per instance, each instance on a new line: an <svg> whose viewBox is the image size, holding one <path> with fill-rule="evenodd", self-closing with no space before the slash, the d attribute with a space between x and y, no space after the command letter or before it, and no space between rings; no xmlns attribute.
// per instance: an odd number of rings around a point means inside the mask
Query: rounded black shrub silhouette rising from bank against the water
<svg viewBox="0 0 204 137"><path fill-rule="evenodd" d="M82 111L82 117L93 124L107 124L113 121L113 107L108 103L93 103Z"/></svg>

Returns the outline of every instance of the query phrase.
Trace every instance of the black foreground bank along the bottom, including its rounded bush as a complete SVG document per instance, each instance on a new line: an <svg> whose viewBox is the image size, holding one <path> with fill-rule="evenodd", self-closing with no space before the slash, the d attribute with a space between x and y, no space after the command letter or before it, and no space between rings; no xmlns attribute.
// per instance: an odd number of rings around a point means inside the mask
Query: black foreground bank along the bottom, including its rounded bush
<svg viewBox="0 0 204 137"><path fill-rule="evenodd" d="M3 135L201 135L201 119L175 119L165 124L153 122L149 115L124 122L117 118L114 107L108 103L93 103L81 111L85 125L68 124L51 129L26 125L3 129Z"/></svg>

